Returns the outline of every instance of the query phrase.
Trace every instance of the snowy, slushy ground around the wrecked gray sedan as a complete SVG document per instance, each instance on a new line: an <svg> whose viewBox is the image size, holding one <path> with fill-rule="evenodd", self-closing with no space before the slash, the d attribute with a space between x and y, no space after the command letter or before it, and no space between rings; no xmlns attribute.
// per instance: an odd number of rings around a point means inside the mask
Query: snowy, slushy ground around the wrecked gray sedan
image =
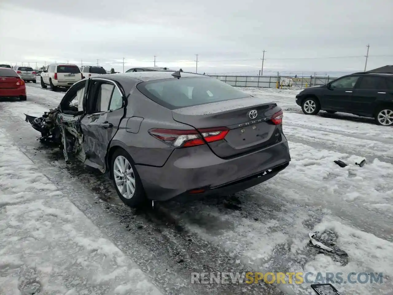
<svg viewBox="0 0 393 295"><path fill-rule="evenodd" d="M64 92L27 89L27 101L0 101L1 294L18 294L26 280L44 294L312 294L306 283L189 282L191 272L251 270L343 273L344 281L351 272L383 273L382 284L334 285L343 294L393 292L391 127L343 113L306 116L299 90L242 89L284 109L290 166L236 195L139 212L101 175L35 141L23 113L42 114ZM362 168L354 164L362 159ZM312 230L348 258L310 248Z"/></svg>

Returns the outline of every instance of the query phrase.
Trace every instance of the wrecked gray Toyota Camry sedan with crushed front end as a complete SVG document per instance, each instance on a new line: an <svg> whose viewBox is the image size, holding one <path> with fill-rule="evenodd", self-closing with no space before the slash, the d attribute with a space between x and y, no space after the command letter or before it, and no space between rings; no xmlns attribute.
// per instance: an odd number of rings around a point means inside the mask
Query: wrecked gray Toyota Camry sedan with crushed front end
<svg viewBox="0 0 393 295"><path fill-rule="evenodd" d="M75 83L42 117L39 140L108 173L120 199L234 193L290 162L283 112L217 79L174 71L101 75Z"/></svg>

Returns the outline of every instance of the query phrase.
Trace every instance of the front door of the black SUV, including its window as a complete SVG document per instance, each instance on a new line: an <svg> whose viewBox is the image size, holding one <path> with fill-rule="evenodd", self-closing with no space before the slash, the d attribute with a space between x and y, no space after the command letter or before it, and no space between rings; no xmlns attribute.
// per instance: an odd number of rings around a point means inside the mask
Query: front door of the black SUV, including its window
<svg viewBox="0 0 393 295"><path fill-rule="evenodd" d="M354 87L359 76L346 76L330 83L330 87L323 92L323 109L348 112Z"/></svg>

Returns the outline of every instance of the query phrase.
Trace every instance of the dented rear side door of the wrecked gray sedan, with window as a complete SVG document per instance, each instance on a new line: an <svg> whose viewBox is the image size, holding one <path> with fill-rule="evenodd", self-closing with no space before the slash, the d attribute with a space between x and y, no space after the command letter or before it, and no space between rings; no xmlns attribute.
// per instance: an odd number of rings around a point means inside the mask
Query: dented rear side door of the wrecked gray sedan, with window
<svg viewBox="0 0 393 295"><path fill-rule="evenodd" d="M103 171L110 141L125 114L121 89L108 79L91 79L86 103L87 113L81 120L86 164Z"/></svg>

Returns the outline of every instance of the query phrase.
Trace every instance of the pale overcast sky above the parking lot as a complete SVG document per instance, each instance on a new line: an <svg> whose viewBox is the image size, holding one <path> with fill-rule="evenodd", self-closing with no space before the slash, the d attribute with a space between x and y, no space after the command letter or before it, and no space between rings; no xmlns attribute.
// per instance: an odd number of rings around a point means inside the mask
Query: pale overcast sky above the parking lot
<svg viewBox="0 0 393 295"><path fill-rule="evenodd" d="M0 62L258 74L393 64L393 0L1 0ZM332 58L340 57L340 58Z"/></svg>

